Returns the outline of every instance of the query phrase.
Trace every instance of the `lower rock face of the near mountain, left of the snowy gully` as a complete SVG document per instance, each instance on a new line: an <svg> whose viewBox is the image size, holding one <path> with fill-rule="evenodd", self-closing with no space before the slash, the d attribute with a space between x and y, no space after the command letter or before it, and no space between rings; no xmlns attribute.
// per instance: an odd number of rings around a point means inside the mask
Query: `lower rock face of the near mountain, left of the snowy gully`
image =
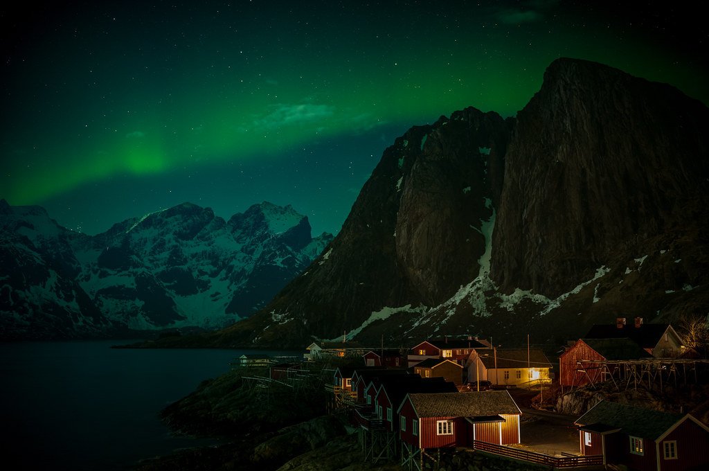
<svg viewBox="0 0 709 471"><path fill-rule="evenodd" d="M509 129L469 108L397 138L323 255L224 341L335 337L385 306L452 296L481 269Z"/></svg>

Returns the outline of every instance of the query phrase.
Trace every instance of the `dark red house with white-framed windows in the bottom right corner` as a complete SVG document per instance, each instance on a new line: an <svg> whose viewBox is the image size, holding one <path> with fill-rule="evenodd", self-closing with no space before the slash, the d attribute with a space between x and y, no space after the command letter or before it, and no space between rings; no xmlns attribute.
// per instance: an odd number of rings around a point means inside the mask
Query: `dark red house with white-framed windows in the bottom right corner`
<svg viewBox="0 0 709 471"><path fill-rule="evenodd" d="M709 427L690 414L667 414L601 401L576 421L583 455L638 471L705 470Z"/></svg>

